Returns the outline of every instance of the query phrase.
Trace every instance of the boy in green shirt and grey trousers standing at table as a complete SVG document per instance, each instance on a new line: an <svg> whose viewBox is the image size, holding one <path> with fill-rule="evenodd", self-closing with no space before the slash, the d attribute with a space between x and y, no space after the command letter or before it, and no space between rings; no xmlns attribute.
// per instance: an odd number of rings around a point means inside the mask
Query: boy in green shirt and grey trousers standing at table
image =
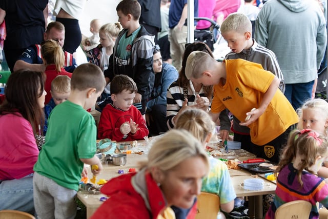
<svg viewBox="0 0 328 219"><path fill-rule="evenodd" d="M104 73L93 64L78 66L68 100L49 116L46 143L33 170L33 197L39 218L74 218L74 197L84 164L103 169L96 152L96 123L86 109L95 105L105 87Z"/></svg>

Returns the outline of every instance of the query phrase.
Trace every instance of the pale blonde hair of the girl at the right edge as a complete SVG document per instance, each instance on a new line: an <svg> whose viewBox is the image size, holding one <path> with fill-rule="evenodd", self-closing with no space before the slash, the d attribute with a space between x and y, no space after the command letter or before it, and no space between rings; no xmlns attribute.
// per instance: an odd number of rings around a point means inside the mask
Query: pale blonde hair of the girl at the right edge
<svg viewBox="0 0 328 219"><path fill-rule="evenodd" d="M315 98L315 99L308 99L308 101L305 101L305 103L296 110L299 122L297 124L297 129L302 130L306 127L303 127L303 110L304 109L314 109L314 110L320 110L321 116L323 120L328 120L328 103L324 99ZM326 130L327 132L327 130ZM328 134L328 133L324 133Z"/></svg>

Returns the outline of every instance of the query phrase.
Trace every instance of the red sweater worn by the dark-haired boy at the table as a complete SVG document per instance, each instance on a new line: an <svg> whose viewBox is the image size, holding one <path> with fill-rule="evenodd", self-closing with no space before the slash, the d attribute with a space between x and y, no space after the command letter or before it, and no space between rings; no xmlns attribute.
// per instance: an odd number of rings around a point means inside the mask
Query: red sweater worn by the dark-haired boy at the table
<svg viewBox="0 0 328 219"><path fill-rule="evenodd" d="M138 124L138 130L135 134L128 134L127 138L123 138L124 134L119 130L120 126L125 123L130 123L130 118L133 122ZM98 125L98 138L110 138L112 141L134 141L144 140L144 136L148 136L149 131L146 125L144 117L142 117L140 111L135 107L131 106L128 111L123 111L108 104L100 115L100 121Z"/></svg>

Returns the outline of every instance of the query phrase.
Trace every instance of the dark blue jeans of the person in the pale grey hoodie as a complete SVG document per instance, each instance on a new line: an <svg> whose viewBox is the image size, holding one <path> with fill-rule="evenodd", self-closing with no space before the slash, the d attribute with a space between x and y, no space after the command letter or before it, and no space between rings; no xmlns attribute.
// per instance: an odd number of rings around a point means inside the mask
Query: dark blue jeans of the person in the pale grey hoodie
<svg viewBox="0 0 328 219"><path fill-rule="evenodd" d="M286 84L284 95L296 110L312 97L314 81L299 84Z"/></svg>

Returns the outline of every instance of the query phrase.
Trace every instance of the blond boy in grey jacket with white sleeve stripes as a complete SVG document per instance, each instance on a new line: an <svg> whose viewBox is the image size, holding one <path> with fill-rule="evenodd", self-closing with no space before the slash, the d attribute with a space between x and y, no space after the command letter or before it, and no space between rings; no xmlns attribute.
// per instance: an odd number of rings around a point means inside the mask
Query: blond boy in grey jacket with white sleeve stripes
<svg viewBox="0 0 328 219"><path fill-rule="evenodd" d="M262 65L264 70L271 71L279 78L279 89L284 92L284 80L277 57L271 50L256 43L252 38L252 24L250 19L242 13L230 14L222 23L221 35L228 42L231 49L225 59L242 58ZM241 148L251 151L250 129L240 126L236 116L233 118L232 131L234 141L241 142Z"/></svg>

